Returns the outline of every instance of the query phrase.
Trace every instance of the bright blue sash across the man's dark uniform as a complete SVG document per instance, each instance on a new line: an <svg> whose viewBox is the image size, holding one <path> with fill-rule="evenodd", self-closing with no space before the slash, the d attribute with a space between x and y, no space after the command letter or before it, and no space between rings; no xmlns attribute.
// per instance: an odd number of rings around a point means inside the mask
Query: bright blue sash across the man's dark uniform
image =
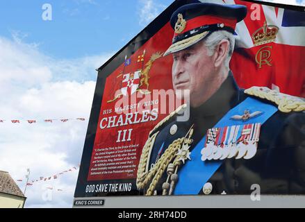
<svg viewBox="0 0 305 222"><path fill-rule="evenodd" d="M263 114L258 117L250 118L246 123L265 123L275 112L277 108L274 105L262 103L257 99L248 97L242 103L238 104L235 108L227 112L220 121L214 126L224 127L233 125L243 125L242 121L230 119L233 115L243 114L245 110L261 111ZM191 160L186 161L186 164L179 170L179 180L174 189L174 195L182 194L199 194L203 185L213 176L224 160L219 161L201 161L201 149L204 148L206 136L192 149L190 155Z"/></svg>

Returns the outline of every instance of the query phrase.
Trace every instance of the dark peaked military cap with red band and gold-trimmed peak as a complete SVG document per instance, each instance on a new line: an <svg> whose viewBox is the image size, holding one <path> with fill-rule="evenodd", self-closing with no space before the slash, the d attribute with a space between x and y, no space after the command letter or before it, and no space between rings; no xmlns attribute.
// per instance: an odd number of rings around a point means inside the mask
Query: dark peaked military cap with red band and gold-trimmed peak
<svg viewBox="0 0 305 222"><path fill-rule="evenodd" d="M246 15L247 8L242 5L190 3L181 6L170 19L174 38L164 56L187 49L213 31L225 30L234 33L236 24Z"/></svg>

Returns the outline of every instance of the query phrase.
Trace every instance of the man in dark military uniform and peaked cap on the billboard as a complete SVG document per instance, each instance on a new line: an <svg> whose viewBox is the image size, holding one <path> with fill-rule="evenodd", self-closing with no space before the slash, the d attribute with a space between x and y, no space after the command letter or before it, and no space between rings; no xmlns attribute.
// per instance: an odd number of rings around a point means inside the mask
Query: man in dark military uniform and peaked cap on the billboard
<svg viewBox="0 0 305 222"><path fill-rule="evenodd" d="M240 5L191 3L170 19L172 83L182 105L151 130L138 166L143 194L305 194L305 103L240 89L229 69ZM242 64L241 64L242 65ZM190 118L179 121L184 110Z"/></svg>

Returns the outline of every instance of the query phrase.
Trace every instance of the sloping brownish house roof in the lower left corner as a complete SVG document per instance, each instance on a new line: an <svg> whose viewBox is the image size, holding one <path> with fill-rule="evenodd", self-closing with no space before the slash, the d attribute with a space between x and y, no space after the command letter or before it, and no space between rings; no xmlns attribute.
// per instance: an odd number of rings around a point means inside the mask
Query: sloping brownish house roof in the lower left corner
<svg viewBox="0 0 305 222"><path fill-rule="evenodd" d="M0 171L0 192L25 197L16 182L6 171Z"/></svg>

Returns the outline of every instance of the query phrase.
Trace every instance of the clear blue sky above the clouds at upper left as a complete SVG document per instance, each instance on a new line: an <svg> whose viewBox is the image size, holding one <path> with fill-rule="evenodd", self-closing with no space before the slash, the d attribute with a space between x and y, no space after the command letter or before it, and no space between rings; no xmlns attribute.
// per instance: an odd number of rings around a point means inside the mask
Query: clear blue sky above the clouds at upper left
<svg viewBox="0 0 305 222"><path fill-rule="evenodd" d="M44 3L52 6L52 21L42 20ZM146 26L151 13L170 3L172 0L154 1L145 19L143 0L1 1L0 35L10 38L12 32L18 32L24 42L35 42L56 58L117 51Z"/></svg>

